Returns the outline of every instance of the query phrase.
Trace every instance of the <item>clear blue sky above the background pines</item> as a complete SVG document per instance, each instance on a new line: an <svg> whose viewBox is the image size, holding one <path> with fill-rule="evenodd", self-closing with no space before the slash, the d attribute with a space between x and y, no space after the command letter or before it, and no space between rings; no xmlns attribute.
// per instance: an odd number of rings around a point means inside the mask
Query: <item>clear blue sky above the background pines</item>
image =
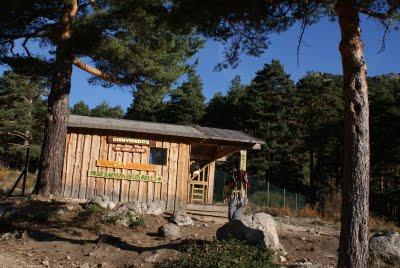
<svg viewBox="0 0 400 268"><path fill-rule="evenodd" d="M375 21L362 18L362 38L365 43L365 54L368 65L368 75L400 72L400 32L391 32L387 36L386 49L378 54L383 34L382 27ZM304 36L305 45L301 48L300 63L297 65L296 46L299 27L292 27L289 31L270 38L269 49L260 57L242 55L241 62L236 69L227 69L214 72L214 67L222 61L223 46L208 41L195 58L199 60L197 72L203 81L203 92L207 100L216 91L223 93L229 87L235 75L240 75L243 83L248 83L265 63L271 59L278 59L284 65L294 81L301 78L307 71L321 71L340 74L341 60L338 50L340 32L336 22L322 20L309 27ZM120 105L126 109L132 102L132 94L120 87L102 88L89 85L89 76L83 71L74 68L70 105L83 100L90 107L102 101L110 105Z"/></svg>

